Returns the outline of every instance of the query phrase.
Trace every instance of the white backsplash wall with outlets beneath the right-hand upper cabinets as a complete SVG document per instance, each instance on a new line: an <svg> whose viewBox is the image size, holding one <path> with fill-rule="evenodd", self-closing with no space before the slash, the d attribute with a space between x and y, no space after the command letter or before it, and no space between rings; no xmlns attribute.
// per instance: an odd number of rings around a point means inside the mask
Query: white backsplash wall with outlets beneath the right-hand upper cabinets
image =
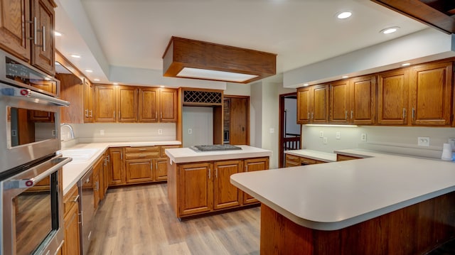
<svg viewBox="0 0 455 255"><path fill-rule="evenodd" d="M319 137L327 137L327 144ZM336 139L340 132L341 139ZM367 135L367 141L361 141L361 134ZM429 146L417 146L417 137L430 138ZM302 126L302 147L333 152L346 148L365 148L388 153L400 153L411 156L440 158L442 144L455 137L455 128L432 128L417 126Z"/></svg>

